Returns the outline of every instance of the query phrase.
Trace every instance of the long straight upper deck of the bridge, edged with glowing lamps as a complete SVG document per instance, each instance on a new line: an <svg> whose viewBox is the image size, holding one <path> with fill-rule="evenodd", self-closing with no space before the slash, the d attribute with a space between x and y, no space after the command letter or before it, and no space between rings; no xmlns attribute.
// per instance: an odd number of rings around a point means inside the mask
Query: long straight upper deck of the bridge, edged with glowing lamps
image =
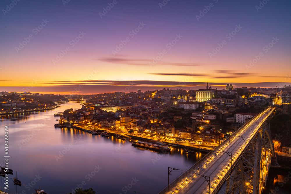
<svg viewBox="0 0 291 194"><path fill-rule="evenodd" d="M243 127L241 127L238 132L235 134L235 136L231 137L228 142L225 143L225 145L221 145L221 147L217 149L221 149L225 152L231 152L232 158L234 163L236 159L240 157L240 155L244 152L244 140L243 138L240 138L238 136L245 137L246 139L246 145L253 138L253 134L256 134L258 129L262 126L262 124L265 122L265 120L269 117L269 115L274 111L274 107L267 108L265 111L257 115L255 118L253 118L251 121L246 123ZM257 124L258 122L259 124ZM253 128L253 131L249 128ZM237 155L236 155L237 154ZM208 162L207 162L208 160ZM205 164L204 164L205 163ZM202 164L202 168L201 168ZM218 151L216 153L216 156L212 157L209 156L204 161L202 161L199 166L194 170L196 170L196 173L205 175L210 177L210 186L212 188L210 189L210 193L214 193L214 189L218 186L219 181L225 180L226 172L230 170L230 156L228 154ZM194 172L193 170L193 172ZM225 170L225 172L223 172ZM218 179L219 178L219 179ZM166 193L208 193L209 185L208 182L205 180L205 178L201 177L200 175L192 175L191 177L187 177L178 184L175 184L170 190Z"/></svg>

